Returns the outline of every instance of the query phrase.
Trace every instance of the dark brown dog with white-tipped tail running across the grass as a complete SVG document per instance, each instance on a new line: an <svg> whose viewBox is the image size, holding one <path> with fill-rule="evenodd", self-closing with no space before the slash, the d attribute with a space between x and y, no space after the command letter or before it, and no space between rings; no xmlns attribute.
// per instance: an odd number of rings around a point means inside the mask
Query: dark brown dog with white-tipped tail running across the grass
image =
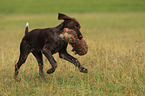
<svg viewBox="0 0 145 96"><path fill-rule="evenodd" d="M15 64L15 74L14 78L18 80L19 69L22 64L25 63L29 53L32 53L37 59L39 66L39 75L44 81L46 77L43 72L43 57L42 54L46 56L51 64L51 68L47 70L48 74L53 73L57 68L57 62L53 58L53 54L59 53L59 57L73 63L79 68L80 72L87 73L88 70L84 68L80 62L67 52L68 43L60 38L64 28L72 29L76 32L78 38L81 40L83 38L80 32L80 24L75 18L71 18L65 14L58 13L58 20L64 20L60 25L53 28L45 29L34 29L28 32L28 23L25 28L25 36L23 37L20 44L20 56L18 62Z"/></svg>

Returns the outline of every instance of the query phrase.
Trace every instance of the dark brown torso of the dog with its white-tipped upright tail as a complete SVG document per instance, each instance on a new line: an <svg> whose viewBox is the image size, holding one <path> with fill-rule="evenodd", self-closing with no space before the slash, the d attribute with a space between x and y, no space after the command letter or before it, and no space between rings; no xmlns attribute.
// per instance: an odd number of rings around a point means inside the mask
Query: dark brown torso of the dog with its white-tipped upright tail
<svg viewBox="0 0 145 96"><path fill-rule="evenodd" d="M64 44L64 41L61 40L59 35L60 34L56 32L55 28L34 29L28 32L28 26L26 25L25 36L23 37L22 42L26 42L26 45L29 46L31 51L41 51L41 49L47 45L50 46L48 48L53 51L52 53L55 53L54 49L58 48L58 46L62 48L61 46ZM58 48L57 51L60 48Z"/></svg>

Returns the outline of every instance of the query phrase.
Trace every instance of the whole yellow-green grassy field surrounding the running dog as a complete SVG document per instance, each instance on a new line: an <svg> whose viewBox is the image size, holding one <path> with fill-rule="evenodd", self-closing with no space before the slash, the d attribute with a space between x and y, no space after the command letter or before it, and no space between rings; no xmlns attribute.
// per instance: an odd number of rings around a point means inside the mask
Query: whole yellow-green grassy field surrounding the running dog
<svg viewBox="0 0 145 96"><path fill-rule="evenodd" d="M25 1L27 2L23 2L24 5L28 3L28 0ZM33 5L33 10L29 11L25 10L25 7L22 8L20 1L17 0L13 0L13 3L18 2L16 6L9 4L0 6L0 96L145 95L145 13L143 12L145 7L143 0L140 0L142 2L133 0L133 3L126 0L126 4L124 4L125 1L117 3L111 0L110 5L103 3L105 0L100 0L97 12L95 7L91 7L91 4L95 6L93 0L90 5L86 6L86 11L83 11L83 7L76 10L78 5L67 10L66 8L70 4L75 4L74 2L69 2L62 10L58 10L65 2L62 0L60 4L57 3L59 7L56 9L43 10L45 7L42 7L41 14L39 13L41 9L35 10L35 6L41 2L37 1ZM28 8L30 8L29 3ZM6 4L6 0L1 0L0 4ZM54 2L51 1L51 6L48 8L53 7L53 4ZM108 5L103 7L103 4ZM110 8L114 4L120 6L114 6L115 9ZM18 9L17 5L21 8ZM43 4L40 3L40 5ZM124 8L121 7L123 5ZM123 12L125 8L126 11ZM50 68L50 64L43 56L44 72L48 79L47 82L43 82L38 74L37 61L30 54L20 69L20 82L15 82L14 65L19 57L19 44L24 36L26 22L30 24L29 30L54 27L62 22L57 20L59 11L75 17L82 26L81 32L89 46L88 54L74 55L71 52L71 46L68 46L68 52L78 58L89 72L80 73L73 64L60 59L58 54L55 54L58 68L55 73L49 75L46 71Z"/></svg>

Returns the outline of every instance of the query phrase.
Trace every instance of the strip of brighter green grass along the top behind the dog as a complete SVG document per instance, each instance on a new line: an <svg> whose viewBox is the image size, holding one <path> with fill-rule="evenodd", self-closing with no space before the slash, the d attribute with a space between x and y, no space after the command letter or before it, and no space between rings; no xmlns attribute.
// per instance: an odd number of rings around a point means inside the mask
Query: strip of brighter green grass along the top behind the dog
<svg viewBox="0 0 145 96"><path fill-rule="evenodd" d="M145 0L0 0L1 14L144 12Z"/></svg>

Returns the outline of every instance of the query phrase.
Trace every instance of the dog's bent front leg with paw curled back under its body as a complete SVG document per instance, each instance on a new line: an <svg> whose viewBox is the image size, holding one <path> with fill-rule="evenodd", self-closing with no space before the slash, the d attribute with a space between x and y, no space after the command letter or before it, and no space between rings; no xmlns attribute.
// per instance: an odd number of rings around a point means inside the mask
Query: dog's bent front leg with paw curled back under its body
<svg viewBox="0 0 145 96"><path fill-rule="evenodd" d="M42 53L46 56L46 58L48 59L48 61L51 64L51 68L47 70L48 74L51 74L55 71L55 69L57 68L57 62L55 61L55 59L52 56L52 53L50 50L48 50L47 48L44 48L42 50Z"/></svg>

